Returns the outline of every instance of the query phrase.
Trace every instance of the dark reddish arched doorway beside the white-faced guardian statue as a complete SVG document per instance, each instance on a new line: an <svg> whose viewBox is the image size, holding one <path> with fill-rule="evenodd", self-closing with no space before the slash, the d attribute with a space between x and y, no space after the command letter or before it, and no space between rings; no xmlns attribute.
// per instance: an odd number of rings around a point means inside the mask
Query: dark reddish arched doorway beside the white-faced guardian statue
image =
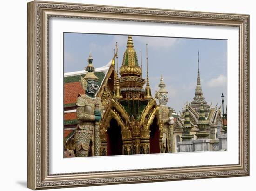
<svg viewBox="0 0 256 191"><path fill-rule="evenodd" d="M155 117L153 123L150 125L150 153L160 153L159 137L160 131L157 125L157 118Z"/></svg>

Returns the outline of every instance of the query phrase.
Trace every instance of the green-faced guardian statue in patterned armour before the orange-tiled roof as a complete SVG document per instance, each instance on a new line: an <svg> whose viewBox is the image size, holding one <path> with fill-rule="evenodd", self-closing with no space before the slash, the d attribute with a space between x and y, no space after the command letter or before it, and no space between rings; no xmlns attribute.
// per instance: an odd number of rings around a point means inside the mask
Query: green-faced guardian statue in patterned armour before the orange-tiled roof
<svg viewBox="0 0 256 191"><path fill-rule="evenodd" d="M90 53L88 66L85 68L88 73L84 77L81 76L81 85L85 94L79 94L76 101L78 119L74 136L76 157L99 156L99 121L102 118L102 104L101 99L95 96L99 89L99 79L93 73L92 62Z"/></svg>

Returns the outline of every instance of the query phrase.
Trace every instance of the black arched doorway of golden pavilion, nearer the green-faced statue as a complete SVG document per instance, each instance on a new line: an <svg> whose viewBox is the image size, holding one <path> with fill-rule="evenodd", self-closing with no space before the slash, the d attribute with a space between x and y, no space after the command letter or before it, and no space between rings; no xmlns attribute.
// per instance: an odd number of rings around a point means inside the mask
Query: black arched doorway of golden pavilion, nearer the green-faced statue
<svg viewBox="0 0 256 191"><path fill-rule="evenodd" d="M122 155L122 133L115 119L111 119L107 130L107 155Z"/></svg>

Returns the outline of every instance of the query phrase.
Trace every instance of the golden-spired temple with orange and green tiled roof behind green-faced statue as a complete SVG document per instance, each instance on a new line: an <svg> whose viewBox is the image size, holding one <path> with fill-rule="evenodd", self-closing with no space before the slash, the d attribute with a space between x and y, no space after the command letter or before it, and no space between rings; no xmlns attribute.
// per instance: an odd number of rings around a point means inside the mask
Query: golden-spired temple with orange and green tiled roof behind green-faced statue
<svg viewBox="0 0 256 191"><path fill-rule="evenodd" d="M142 78L142 63L139 65L131 36L128 36L126 47L120 71L117 45L111 62L94 71L101 83L96 96L101 98L104 107L100 121L102 156L163 152L159 107L149 86L148 55L145 80ZM86 71L71 72L64 79L64 99L67 99L67 102L64 100L64 141L65 150L68 151L66 154L69 156L74 155L72 150L77 120L75 98L69 103L68 97L83 92L79 87L81 85L78 76L85 73Z"/></svg>

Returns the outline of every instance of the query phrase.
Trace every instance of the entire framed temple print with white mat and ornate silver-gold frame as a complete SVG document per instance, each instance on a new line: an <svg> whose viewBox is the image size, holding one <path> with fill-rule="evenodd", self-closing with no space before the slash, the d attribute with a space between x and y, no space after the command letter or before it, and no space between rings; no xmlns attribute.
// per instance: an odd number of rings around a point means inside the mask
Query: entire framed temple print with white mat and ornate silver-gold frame
<svg viewBox="0 0 256 191"><path fill-rule="evenodd" d="M249 175L249 15L29 2L28 87L31 189Z"/></svg>

